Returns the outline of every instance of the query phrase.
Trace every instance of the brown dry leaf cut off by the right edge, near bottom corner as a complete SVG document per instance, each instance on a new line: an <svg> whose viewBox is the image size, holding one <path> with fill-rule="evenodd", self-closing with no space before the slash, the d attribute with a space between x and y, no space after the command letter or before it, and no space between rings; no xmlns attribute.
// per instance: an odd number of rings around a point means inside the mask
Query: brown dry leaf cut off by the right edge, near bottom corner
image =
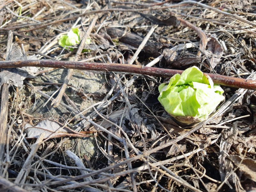
<svg viewBox="0 0 256 192"><path fill-rule="evenodd" d="M256 161L251 158L242 159L238 155L230 155L228 158L251 180L256 182Z"/></svg>

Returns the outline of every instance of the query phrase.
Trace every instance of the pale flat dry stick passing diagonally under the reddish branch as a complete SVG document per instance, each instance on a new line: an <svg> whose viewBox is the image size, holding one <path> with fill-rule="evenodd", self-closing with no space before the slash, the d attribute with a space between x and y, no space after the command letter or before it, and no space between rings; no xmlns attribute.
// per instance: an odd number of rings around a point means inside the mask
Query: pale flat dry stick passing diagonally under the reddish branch
<svg viewBox="0 0 256 192"><path fill-rule="evenodd" d="M90 33L92 32L92 29L94 28L95 23L96 23L97 20L98 20L98 15L96 15L96 16L93 18L90 27L89 27L88 30L86 31L86 33L85 33L85 35L84 35L84 37L83 37L83 39L82 39L82 41L81 41L81 43L80 43L80 46L79 46L79 48L78 48L78 50L77 50L77 52L76 52L76 57L75 57L74 61L78 61L79 56L80 56L80 54L82 53L82 51L83 51L83 49L84 49L84 44L85 44L85 42L86 42L86 39L89 38L89 35L90 35ZM67 85L68 85L69 80L70 80L70 79L72 78L72 76L73 76L73 72L74 72L74 69L69 69L69 70L68 70L68 76L66 76L65 81L64 81L63 85L61 86L60 92L59 92L58 96L56 97L56 99L54 99L54 100L52 101L52 104L51 104L51 105L53 105L53 107L58 107L58 105L60 104L60 100L61 100L61 98L62 98L64 92L66 91L66 88L67 88Z"/></svg>

